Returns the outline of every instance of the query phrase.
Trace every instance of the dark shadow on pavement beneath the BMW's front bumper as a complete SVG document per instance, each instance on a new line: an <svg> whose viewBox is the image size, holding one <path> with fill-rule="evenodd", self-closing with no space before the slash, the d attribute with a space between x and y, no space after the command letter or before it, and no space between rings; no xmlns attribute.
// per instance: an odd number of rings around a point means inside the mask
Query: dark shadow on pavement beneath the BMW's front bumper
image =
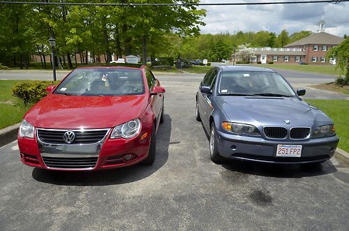
<svg viewBox="0 0 349 231"><path fill-rule="evenodd" d="M337 171L336 167L334 167L331 161L304 165L283 165L243 161L225 161L222 167L224 167L226 170L234 172L277 178L313 177L325 174L332 174Z"/></svg>

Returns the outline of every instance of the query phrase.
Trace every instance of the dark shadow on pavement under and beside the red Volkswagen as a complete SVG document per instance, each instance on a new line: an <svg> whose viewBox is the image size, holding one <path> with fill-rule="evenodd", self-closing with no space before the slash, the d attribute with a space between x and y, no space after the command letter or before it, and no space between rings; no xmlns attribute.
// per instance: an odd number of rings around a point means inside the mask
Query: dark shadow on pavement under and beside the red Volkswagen
<svg viewBox="0 0 349 231"><path fill-rule="evenodd" d="M142 164L96 172L58 172L34 168L32 176L37 181L69 186L105 186L126 184L149 177L168 161L172 119L165 114L164 122L156 134L156 160L151 166Z"/></svg>

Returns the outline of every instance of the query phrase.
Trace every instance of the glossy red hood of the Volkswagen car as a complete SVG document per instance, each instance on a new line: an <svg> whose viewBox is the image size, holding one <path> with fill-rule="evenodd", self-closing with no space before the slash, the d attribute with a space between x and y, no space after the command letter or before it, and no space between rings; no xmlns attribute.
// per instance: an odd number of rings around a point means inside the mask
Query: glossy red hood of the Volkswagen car
<svg viewBox="0 0 349 231"><path fill-rule="evenodd" d="M112 128L140 117L148 98L136 96L64 96L50 94L24 116L38 128Z"/></svg>

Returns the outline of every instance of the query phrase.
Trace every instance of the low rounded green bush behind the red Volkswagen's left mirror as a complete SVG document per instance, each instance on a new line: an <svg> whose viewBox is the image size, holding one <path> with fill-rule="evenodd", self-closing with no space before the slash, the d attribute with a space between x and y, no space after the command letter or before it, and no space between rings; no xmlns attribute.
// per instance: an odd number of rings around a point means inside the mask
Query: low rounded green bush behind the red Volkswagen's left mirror
<svg viewBox="0 0 349 231"><path fill-rule="evenodd" d="M13 96L20 98L24 103L36 103L47 96L46 88L50 85L58 84L54 81L31 81L16 84L12 88Z"/></svg>

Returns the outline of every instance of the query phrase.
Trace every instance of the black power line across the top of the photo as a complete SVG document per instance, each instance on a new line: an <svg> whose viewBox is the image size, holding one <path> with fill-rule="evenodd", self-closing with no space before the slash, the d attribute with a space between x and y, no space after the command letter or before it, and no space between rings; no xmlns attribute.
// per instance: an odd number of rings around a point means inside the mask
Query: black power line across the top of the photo
<svg viewBox="0 0 349 231"><path fill-rule="evenodd" d="M43 1L0 1L8 4L31 5L70 5L70 6L246 6L246 5L279 5L302 3L333 3L338 4L349 0L315 0L315 1L265 1L265 2L240 2L240 3L77 3L77 2L43 2Z"/></svg>

